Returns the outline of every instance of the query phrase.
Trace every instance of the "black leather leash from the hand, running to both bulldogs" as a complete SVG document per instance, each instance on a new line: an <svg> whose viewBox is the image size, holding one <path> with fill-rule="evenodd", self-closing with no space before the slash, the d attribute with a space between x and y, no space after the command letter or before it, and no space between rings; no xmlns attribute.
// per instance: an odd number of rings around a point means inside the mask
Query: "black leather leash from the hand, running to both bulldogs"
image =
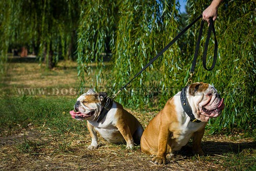
<svg viewBox="0 0 256 171"><path fill-rule="evenodd" d="M148 66L150 66L156 59L158 59L170 46L172 46L200 18L202 18L202 15L197 17L191 24L189 24L185 29L183 29L172 41L169 42L169 44L167 46L165 46L154 58L152 58L150 60L150 62L148 62L147 65L145 65L145 67L143 67L137 74L135 74L135 76L129 82L127 82L120 90L118 90L118 92L116 94L113 94L112 98L115 98L123 89L125 89L127 86L129 86L129 84L139 74L141 74ZM194 75L194 71L195 71L196 60L197 60L199 46L200 46L200 40L201 40L201 37L202 37L203 24L204 24L204 21L202 20L200 31L199 31L199 37L198 37L198 41L197 41L197 46L196 46L196 50L195 50L194 60L193 60L193 63L192 63L192 67L190 69L190 78L189 78L190 80L191 80L191 77ZM211 31L214 33L214 36L215 36L214 62L212 63L211 68L207 69L207 67L206 67L206 54L207 54L207 50L208 50ZM215 33L215 28L214 28L214 21L212 20L212 18L210 18L210 24L209 24L208 34L207 34L205 47L204 47L204 53L203 53L203 66L208 71L211 71L212 69L214 69L214 66L215 66L215 63L216 63L216 60L217 60L217 50L218 50L218 44L217 44L216 33Z"/></svg>

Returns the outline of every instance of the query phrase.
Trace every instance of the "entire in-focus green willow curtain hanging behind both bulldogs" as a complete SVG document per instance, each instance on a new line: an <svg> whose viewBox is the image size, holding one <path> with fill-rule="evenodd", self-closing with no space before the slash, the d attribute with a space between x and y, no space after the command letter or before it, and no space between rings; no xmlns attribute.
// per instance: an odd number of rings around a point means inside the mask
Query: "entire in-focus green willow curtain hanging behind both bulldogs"
<svg viewBox="0 0 256 171"><path fill-rule="evenodd" d="M111 5L102 1L84 2L78 33L81 86L87 81L84 74L91 73L90 61L95 60L97 71L93 74L97 81L92 86L104 86L109 94L116 93L210 2L188 0L187 15L179 15L177 1L111 1ZM206 38L205 24L194 81L214 84L226 105L221 117L210 120L210 132L255 129L254 9L253 1L223 1L215 22L218 60L211 72L203 69L200 58ZM187 18L186 22L184 18ZM147 108L157 105L162 108L168 98L185 86L199 25L200 22L189 29L116 100L125 106ZM208 49L208 67L214 54L213 45L210 44ZM109 50L112 52L109 65L112 72L104 73L102 61L105 58L101 54Z"/></svg>

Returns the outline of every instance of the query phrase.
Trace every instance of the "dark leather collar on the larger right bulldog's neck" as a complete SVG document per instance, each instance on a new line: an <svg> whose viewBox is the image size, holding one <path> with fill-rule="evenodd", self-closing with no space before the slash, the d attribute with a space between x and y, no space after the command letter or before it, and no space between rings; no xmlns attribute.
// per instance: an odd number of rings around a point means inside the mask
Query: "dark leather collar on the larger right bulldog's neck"
<svg viewBox="0 0 256 171"><path fill-rule="evenodd" d="M180 101L181 101L182 108L185 111L185 113L189 116L190 121L200 123L201 121L195 118L193 111L191 110L191 107L187 101L187 96L186 96L187 87L188 86L184 87L180 94Z"/></svg>

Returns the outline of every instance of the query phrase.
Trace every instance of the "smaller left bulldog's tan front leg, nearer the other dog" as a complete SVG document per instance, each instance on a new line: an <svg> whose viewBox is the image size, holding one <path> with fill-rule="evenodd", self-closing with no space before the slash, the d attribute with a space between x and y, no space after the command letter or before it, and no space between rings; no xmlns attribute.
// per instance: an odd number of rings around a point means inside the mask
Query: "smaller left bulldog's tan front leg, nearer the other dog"
<svg viewBox="0 0 256 171"><path fill-rule="evenodd" d="M127 124L118 124L117 129L122 134L123 138L126 141L126 148L133 148L134 142L133 142L133 136L131 134L130 128Z"/></svg>

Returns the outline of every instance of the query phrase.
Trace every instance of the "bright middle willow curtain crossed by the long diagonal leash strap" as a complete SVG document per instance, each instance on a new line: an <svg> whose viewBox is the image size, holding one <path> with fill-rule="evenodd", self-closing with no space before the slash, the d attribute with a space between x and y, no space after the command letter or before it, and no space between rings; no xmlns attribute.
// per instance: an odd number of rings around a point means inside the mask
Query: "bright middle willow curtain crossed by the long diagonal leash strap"
<svg viewBox="0 0 256 171"><path fill-rule="evenodd" d="M124 1L119 5L116 48L112 58L114 68L119 70L114 70L113 75L109 76L109 82L112 83L114 90L124 86L168 44L170 39L176 36L178 10L175 1L153 1L148 2L147 5L143 3ZM172 87L176 77L171 73L177 73L180 68L170 67L169 63L180 61L178 53L179 48L175 44L158 61L155 61L146 70L147 72L142 73L132 82L128 88L132 97L119 96L118 100L125 104L143 106L144 103L150 103L152 94L148 92L153 92L155 88L165 90ZM159 72L165 74L159 75Z"/></svg>

